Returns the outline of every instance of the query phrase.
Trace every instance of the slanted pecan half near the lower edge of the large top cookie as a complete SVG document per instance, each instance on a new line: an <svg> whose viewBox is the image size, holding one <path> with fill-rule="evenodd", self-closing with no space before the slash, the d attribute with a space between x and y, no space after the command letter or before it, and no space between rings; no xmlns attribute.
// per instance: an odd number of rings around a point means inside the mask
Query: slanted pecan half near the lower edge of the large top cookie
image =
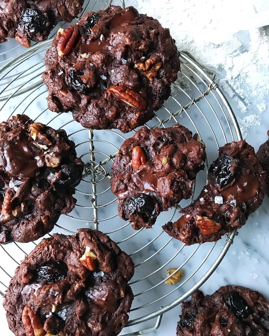
<svg viewBox="0 0 269 336"><path fill-rule="evenodd" d="M114 94L117 98L124 101L130 106L137 107L141 111L147 108L146 100L136 91L130 90L127 86L111 85L107 92Z"/></svg>

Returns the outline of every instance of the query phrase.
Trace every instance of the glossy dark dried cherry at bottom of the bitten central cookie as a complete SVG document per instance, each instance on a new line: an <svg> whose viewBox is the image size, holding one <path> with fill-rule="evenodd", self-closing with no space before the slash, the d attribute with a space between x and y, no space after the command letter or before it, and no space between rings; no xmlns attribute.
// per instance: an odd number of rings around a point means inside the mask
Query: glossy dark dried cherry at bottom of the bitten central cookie
<svg viewBox="0 0 269 336"><path fill-rule="evenodd" d="M157 217L154 200L147 194L132 196L128 202L127 209L130 211L130 215L138 214L145 222Z"/></svg>

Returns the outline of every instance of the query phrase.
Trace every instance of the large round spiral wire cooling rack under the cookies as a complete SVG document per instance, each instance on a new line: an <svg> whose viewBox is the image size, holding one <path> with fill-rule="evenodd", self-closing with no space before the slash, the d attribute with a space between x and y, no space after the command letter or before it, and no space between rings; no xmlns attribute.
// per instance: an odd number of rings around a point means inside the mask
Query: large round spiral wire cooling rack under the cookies
<svg viewBox="0 0 269 336"><path fill-rule="evenodd" d="M93 2L94 6L87 9L100 9L100 6L97 8L97 1ZM101 7L104 8L107 4L105 2ZM161 323L162 314L198 289L212 275L233 243L236 231L228 234L226 241L222 239L217 243L185 246L170 238L160 228L164 223L178 219L178 211L199 195L199 191L207 183L207 162L210 164L216 158L218 148L227 142L242 139L237 120L215 81L215 74L205 71L188 52L180 52L179 79L172 84L168 100L146 126L149 129L169 127L179 122L198 133L206 144L206 169L198 173L190 200L184 200L180 205L161 213L152 229L134 231L131 223L124 222L118 216L117 198L110 191L109 179L111 165L120 145L135 131L128 134L122 134L118 130L93 131L82 128L71 114L55 114L47 109L47 89L39 78L43 72L40 70L44 70L41 55L50 43L51 41L45 41L31 47L20 57L7 61L0 69L1 81L10 79L10 73L16 73L11 81L2 85L0 112L6 119L18 113L27 114L34 121L53 128L64 128L69 138L75 141L77 154L84 162L84 175L76 187L75 197L78 201L70 214L60 217L51 234L73 234L77 228L93 227L116 241L135 262L135 276L129 283L135 300L130 320L123 332L135 336L156 330ZM37 56L40 57L38 65L35 63ZM27 69L29 61L37 65L38 70ZM21 84L15 84L11 92L12 85L19 81ZM39 241L1 245L1 294L7 288L15 267ZM182 281L172 287L166 285L167 268L176 268L172 275L183 269ZM157 318L157 321L152 327L149 320L153 318ZM141 323L143 324L137 327Z"/></svg>

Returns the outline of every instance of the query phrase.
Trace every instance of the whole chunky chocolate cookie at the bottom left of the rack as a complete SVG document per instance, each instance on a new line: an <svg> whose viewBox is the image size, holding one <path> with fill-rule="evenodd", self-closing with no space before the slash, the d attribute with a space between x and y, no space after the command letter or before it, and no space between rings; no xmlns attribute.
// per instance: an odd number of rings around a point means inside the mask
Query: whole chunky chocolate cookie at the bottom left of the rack
<svg viewBox="0 0 269 336"><path fill-rule="evenodd" d="M131 258L100 231L43 239L15 271L4 296L17 336L117 335L133 300Z"/></svg>

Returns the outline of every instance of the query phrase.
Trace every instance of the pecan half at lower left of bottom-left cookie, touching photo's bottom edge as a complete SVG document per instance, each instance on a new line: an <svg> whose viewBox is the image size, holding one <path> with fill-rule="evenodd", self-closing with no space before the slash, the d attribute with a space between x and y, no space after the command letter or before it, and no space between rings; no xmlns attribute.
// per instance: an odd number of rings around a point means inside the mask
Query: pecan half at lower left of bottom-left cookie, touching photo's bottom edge
<svg viewBox="0 0 269 336"><path fill-rule="evenodd" d="M23 309L22 322L25 326L27 336L46 335L39 317L34 313L34 310L30 306L28 306L28 304Z"/></svg>

